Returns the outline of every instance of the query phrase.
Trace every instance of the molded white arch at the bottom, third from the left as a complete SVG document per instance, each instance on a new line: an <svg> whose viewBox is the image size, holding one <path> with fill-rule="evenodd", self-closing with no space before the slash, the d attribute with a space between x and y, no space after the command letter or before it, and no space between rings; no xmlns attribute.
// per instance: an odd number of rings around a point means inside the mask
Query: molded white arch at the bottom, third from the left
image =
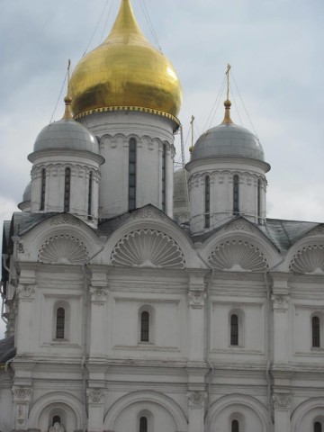
<svg viewBox="0 0 324 432"><path fill-rule="evenodd" d="M267 424L269 422L269 414L266 406L247 394L230 394L221 397L218 401L215 401L211 405L209 411L207 420L208 430L215 430L213 428L215 420L218 418L220 413L226 409L230 409L229 420L234 419L233 415L237 417L240 416L240 419L244 419L244 410L252 410L262 424L262 429L259 432L266 432Z"/></svg>

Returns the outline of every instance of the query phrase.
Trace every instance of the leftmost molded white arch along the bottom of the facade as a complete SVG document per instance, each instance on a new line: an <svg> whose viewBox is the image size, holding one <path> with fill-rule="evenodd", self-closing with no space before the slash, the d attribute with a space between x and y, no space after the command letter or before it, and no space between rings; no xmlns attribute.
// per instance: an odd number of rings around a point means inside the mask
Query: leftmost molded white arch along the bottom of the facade
<svg viewBox="0 0 324 432"><path fill-rule="evenodd" d="M83 404L73 394L67 392L50 392L34 401L28 420L29 428L40 428L40 422L44 419L48 420L47 417L53 415L56 409L58 413L66 413L66 418L76 423L73 425L75 428L82 428L85 414Z"/></svg>

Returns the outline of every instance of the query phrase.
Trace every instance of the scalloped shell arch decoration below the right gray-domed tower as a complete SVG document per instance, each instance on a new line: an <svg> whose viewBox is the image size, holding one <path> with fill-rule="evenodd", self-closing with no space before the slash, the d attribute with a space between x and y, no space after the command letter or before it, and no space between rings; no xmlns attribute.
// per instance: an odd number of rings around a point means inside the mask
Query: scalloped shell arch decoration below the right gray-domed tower
<svg viewBox="0 0 324 432"><path fill-rule="evenodd" d="M208 262L218 271L264 272L266 257L254 245L244 240L229 240L215 247Z"/></svg>

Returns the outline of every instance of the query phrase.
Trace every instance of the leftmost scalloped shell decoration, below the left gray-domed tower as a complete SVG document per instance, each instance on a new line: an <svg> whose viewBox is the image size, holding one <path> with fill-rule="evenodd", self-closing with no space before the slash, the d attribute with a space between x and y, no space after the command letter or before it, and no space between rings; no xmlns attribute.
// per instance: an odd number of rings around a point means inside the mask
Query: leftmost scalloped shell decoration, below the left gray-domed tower
<svg viewBox="0 0 324 432"><path fill-rule="evenodd" d="M85 264L89 253L85 244L73 236L58 235L40 247L38 260L44 264Z"/></svg>

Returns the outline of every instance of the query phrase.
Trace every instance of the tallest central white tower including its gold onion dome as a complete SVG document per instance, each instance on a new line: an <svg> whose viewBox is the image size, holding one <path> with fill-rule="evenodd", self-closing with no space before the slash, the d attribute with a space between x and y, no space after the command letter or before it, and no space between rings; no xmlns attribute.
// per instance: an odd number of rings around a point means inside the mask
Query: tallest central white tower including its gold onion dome
<svg viewBox="0 0 324 432"><path fill-rule="evenodd" d="M101 216L151 203L172 217L182 89L174 67L140 31L130 0L122 0L108 38L76 65L70 88L75 119L97 137L106 161Z"/></svg>

